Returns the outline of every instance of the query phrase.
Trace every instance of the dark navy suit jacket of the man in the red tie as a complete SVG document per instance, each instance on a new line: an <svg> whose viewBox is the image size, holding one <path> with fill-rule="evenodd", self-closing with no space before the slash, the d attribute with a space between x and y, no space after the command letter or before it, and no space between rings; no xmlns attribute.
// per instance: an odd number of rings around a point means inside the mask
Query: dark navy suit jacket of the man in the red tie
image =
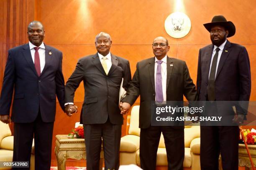
<svg viewBox="0 0 256 170"><path fill-rule="evenodd" d="M36 73L28 44L8 51L0 98L0 115L9 115L13 87L13 122L33 122L39 109L44 122L54 122L56 95L64 109L62 53L48 45L45 47L45 66L40 77Z"/></svg>

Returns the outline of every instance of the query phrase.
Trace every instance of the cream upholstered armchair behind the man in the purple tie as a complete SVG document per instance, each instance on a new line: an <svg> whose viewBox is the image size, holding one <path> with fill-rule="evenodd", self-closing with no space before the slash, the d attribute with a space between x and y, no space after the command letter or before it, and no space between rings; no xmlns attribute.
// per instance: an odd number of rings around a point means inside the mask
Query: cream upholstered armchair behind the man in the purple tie
<svg viewBox="0 0 256 170"><path fill-rule="evenodd" d="M135 164L140 166L140 128L138 128L138 122L139 106L133 106L131 115L128 115L127 118L126 135L121 138L120 165ZM184 141L184 169L200 170L200 127L185 126ZM167 166L167 156L163 135L161 135L157 150L156 166Z"/></svg>

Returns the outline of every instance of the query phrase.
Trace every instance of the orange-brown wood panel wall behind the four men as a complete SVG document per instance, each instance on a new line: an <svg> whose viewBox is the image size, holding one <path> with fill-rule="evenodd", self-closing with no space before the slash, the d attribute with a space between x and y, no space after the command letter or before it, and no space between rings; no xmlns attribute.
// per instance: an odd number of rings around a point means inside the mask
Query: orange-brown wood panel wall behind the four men
<svg viewBox="0 0 256 170"><path fill-rule="evenodd" d="M181 4L178 10L189 16L192 25L188 35L180 39L170 37L164 30L164 21L177 10L177 4ZM0 88L8 49L28 42L26 28L32 20L43 23L44 42L63 52L66 81L80 57L96 53L95 35L103 31L112 37L111 52L130 61L132 74L138 61L153 56L151 44L154 38L166 37L171 46L168 55L185 60L195 82L198 50L211 43L203 24L209 23L214 15L224 15L236 25L236 35L228 40L244 45L248 50L252 73L250 100L254 101L255 6L255 0L0 0ZM81 84L74 99L79 108L83 98ZM54 135L69 133L77 121L79 114L67 117L58 105ZM54 149L55 141L52 146ZM52 160L55 160L53 152Z"/></svg>

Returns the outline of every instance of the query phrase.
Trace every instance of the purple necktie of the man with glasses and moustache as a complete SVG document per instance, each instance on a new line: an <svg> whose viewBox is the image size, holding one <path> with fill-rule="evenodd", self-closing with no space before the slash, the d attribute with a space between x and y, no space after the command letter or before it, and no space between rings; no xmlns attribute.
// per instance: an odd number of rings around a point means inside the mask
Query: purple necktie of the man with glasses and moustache
<svg viewBox="0 0 256 170"><path fill-rule="evenodd" d="M156 61L156 101L164 101L163 87L162 87L162 74L161 74L161 63L162 60Z"/></svg>

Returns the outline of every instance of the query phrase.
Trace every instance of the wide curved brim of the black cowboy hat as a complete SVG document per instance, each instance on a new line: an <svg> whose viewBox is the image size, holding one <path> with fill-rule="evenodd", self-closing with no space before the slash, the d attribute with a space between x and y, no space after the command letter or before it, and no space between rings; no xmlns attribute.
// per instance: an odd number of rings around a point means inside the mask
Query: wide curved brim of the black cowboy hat
<svg viewBox="0 0 256 170"><path fill-rule="evenodd" d="M204 24L206 30L208 30L209 32L211 32L211 28L215 25L221 25L221 26L225 27L228 30L228 36L227 37L232 37L236 33L236 27L231 21Z"/></svg>

